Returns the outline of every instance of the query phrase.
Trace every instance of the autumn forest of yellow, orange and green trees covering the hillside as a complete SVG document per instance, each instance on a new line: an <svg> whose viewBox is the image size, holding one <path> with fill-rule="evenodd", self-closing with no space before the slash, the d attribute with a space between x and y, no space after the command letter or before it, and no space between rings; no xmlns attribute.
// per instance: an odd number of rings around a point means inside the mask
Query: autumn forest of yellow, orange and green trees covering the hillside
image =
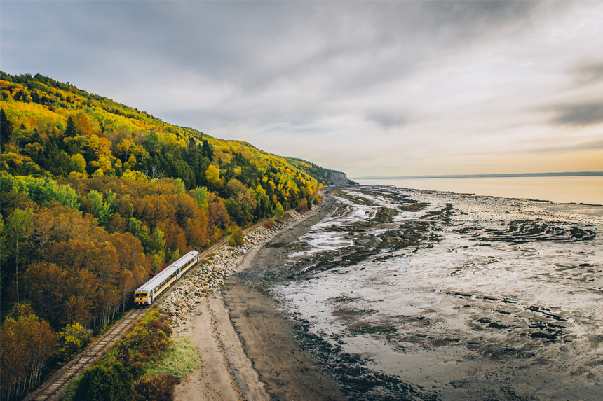
<svg viewBox="0 0 603 401"><path fill-rule="evenodd" d="M1 71L0 166L4 399L69 360L180 255L311 206L333 172Z"/></svg>

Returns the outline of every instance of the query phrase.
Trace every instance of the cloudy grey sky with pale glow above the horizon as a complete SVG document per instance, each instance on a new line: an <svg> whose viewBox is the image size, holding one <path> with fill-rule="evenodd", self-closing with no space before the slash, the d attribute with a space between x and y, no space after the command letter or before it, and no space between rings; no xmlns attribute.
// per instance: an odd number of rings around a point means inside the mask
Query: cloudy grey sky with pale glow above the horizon
<svg viewBox="0 0 603 401"><path fill-rule="evenodd" d="M11 1L0 70L348 177L603 171L603 1Z"/></svg>

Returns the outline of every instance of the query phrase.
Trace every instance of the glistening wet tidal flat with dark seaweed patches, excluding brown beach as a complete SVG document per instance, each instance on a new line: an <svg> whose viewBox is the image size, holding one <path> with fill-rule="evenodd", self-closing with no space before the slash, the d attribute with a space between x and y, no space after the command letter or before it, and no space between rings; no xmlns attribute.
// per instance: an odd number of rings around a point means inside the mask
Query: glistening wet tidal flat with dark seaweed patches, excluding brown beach
<svg viewBox="0 0 603 401"><path fill-rule="evenodd" d="M346 395L603 397L603 206L392 187L336 196L271 293Z"/></svg>

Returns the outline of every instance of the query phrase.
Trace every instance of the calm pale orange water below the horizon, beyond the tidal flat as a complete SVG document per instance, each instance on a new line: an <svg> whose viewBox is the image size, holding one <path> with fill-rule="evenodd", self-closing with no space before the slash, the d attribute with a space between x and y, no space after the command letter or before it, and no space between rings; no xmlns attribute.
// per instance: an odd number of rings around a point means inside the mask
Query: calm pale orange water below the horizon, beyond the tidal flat
<svg viewBox="0 0 603 401"><path fill-rule="evenodd" d="M603 176L357 179L362 185L435 190L564 203L603 204Z"/></svg>

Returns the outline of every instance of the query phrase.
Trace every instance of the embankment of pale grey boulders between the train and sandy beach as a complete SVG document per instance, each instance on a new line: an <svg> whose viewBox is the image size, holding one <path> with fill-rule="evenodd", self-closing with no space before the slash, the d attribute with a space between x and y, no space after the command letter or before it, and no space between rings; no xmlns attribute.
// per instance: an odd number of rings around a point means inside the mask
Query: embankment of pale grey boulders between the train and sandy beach
<svg viewBox="0 0 603 401"><path fill-rule="evenodd" d="M318 209L320 209L320 205L314 206L312 211L316 212ZM196 304L222 288L226 276L236 269L249 251L256 246L262 246L276 232L291 227L304 218L306 215L301 213L287 213L287 217L283 220L276 220L272 228L259 225L255 229L245 232L243 245L222 246L207 260L201 261L196 270L179 281L177 287L161 302L163 311L172 318L172 327L177 328L186 323Z"/></svg>

